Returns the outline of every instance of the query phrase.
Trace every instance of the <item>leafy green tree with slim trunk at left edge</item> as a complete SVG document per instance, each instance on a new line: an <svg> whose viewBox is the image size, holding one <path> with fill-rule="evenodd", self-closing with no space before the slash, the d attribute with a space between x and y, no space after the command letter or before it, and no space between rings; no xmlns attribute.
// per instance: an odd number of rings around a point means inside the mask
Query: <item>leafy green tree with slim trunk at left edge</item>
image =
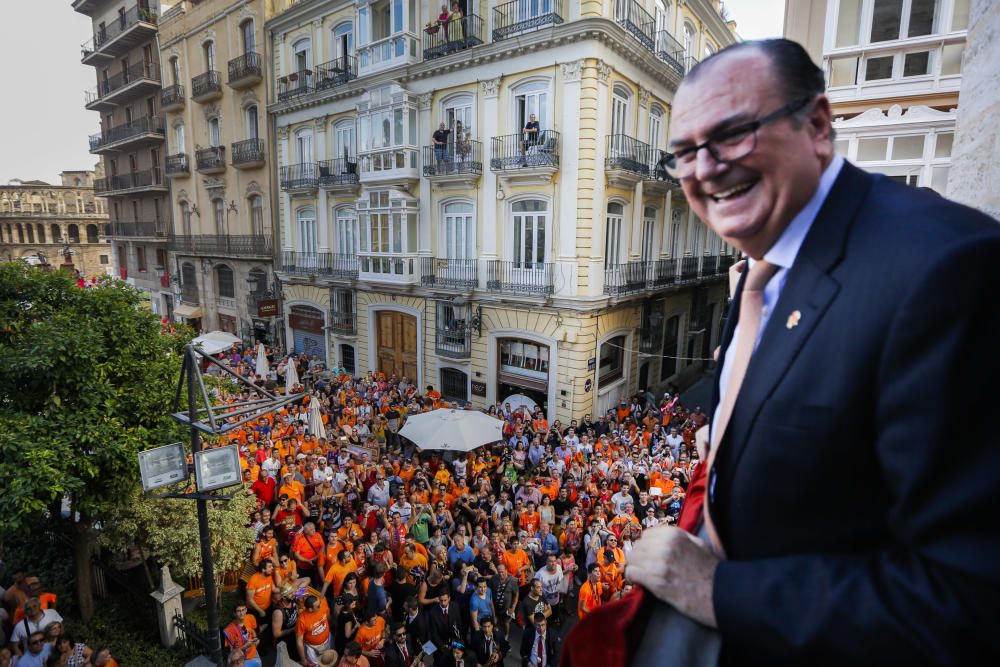
<svg viewBox="0 0 1000 667"><path fill-rule="evenodd" d="M188 337L123 283L0 265L0 535L68 524L84 620L95 522L131 496L140 450L185 437L169 411Z"/></svg>

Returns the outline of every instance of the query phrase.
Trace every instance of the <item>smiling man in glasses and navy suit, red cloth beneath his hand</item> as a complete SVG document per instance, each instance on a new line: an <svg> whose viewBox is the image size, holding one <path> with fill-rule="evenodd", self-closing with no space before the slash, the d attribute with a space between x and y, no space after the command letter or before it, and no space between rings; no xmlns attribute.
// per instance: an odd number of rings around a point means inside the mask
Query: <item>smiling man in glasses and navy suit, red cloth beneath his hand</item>
<svg viewBox="0 0 1000 667"><path fill-rule="evenodd" d="M690 664L710 635L699 664L1000 664L1000 226L836 157L823 91L767 40L677 93L666 168L749 257L679 521L698 537L647 531L645 593L564 664ZM666 640L671 615L693 623Z"/></svg>

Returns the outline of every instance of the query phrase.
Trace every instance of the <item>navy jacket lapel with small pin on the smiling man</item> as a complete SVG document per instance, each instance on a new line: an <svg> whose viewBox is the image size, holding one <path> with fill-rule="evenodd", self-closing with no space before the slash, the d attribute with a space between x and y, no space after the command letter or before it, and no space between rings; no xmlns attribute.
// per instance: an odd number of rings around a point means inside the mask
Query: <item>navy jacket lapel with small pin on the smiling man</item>
<svg viewBox="0 0 1000 667"><path fill-rule="evenodd" d="M788 372L840 290L830 271L844 254L848 232L870 187L871 176L845 163L820 208L747 367L726 441L718 454L719 459L725 461L726 469L733 470L738 465L764 401ZM734 303L739 301L734 298ZM731 321L726 323L729 336L732 336L730 328L735 326L732 320L738 319L738 311L737 307L737 316L730 317ZM800 316L795 325L788 326L788 318L794 317L795 311Z"/></svg>

